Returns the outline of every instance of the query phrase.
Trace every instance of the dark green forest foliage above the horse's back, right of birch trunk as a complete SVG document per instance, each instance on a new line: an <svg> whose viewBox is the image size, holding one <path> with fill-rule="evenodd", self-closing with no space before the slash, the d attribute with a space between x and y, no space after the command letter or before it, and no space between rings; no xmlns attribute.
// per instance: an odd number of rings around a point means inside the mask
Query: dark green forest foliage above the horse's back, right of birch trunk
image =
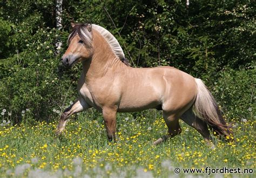
<svg viewBox="0 0 256 178"><path fill-rule="evenodd" d="M65 3L65 24L77 20L104 26L134 66L171 65L201 76L224 66L238 69L255 58L251 1L191 1L188 8L182 1Z"/></svg>

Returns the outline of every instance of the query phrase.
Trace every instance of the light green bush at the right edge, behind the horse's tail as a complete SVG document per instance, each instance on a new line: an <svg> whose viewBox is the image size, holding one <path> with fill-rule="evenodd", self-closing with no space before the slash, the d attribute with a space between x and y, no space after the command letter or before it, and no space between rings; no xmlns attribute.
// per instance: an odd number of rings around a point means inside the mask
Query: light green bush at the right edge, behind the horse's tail
<svg viewBox="0 0 256 178"><path fill-rule="evenodd" d="M214 81L213 94L223 106L227 118L254 120L256 70L227 70Z"/></svg>

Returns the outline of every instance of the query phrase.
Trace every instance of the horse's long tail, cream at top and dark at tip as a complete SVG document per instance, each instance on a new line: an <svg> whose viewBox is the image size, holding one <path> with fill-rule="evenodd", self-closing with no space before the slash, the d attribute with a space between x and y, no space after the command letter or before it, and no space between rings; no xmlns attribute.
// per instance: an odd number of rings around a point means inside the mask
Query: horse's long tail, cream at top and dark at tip
<svg viewBox="0 0 256 178"><path fill-rule="evenodd" d="M227 140L232 140L231 125L227 125L217 102L203 81L197 78L195 80L198 87L197 99L194 104L196 115L207 122L214 134L224 136Z"/></svg>

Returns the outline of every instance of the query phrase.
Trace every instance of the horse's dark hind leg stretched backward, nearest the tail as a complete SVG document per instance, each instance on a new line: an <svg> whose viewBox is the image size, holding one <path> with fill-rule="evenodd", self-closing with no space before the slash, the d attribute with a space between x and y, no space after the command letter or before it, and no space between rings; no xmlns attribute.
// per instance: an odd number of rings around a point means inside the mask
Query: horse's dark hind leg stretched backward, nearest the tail
<svg viewBox="0 0 256 178"><path fill-rule="evenodd" d="M194 114L194 112L192 111L192 107L188 109L183 115L181 115L181 119L186 122L186 124L195 128L203 136L204 140L207 142L208 145L214 147L213 143L211 142L212 138L206 122L199 119Z"/></svg>

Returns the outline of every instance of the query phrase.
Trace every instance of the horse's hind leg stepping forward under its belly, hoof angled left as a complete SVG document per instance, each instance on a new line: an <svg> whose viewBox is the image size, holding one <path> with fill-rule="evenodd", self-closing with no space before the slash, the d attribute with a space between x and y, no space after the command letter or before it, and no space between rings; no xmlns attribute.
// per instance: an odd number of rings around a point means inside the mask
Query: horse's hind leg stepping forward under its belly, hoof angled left
<svg viewBox="0 0 256 178"><path fill-rule="evenodd" d="M173 138L173 136L176 136L181 133L179 118L176 115L169 114L163 111L163 116L165 123L168 127L168 134L154 141L153 145L158 145L159 143L166 141L168 138Z"/></svg>

